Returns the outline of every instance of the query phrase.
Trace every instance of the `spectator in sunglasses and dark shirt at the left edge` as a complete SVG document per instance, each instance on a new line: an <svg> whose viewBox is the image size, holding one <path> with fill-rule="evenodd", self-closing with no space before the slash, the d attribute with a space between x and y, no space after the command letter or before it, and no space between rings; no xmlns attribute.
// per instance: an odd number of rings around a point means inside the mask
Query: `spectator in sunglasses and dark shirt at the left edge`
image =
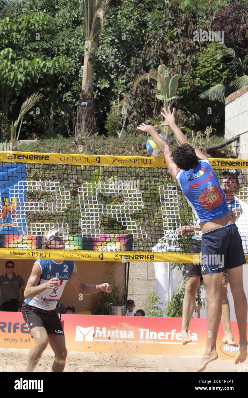
<svg viewBox="0 0 248 398"><path fill-rule="evenodd" d="M1 296L0 309L1 311L18 311L19 290L21 289L20 302L24 302L25 285L22 277L14 272L15 264L8 260L5 263L6 273L0 276Z"/></svg>

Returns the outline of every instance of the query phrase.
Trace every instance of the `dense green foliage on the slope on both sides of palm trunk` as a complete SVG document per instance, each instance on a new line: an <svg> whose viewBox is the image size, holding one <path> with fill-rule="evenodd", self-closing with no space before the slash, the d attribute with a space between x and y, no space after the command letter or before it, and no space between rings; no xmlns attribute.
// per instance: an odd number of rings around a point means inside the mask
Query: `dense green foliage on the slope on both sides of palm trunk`
<svg viewBox="0 0 248 398"><path fill-rule="evenodd" d="M248 0L243 2L247 4ZM160 59L172 76L181 76L176 98L172 100L172 106L182 108L178 116L191 129L205 130L210 124L207 107L214 110L216 105L199 100L198 95L223 81L228 84L230 68L226 60L216 65L210 54L207 62L204 64L202 60L200 64L200 55L210 46L193 42L192 32L210 27L215 13L229 3L230 0L109 2L94 60L100 133L105 132L109 113L122 116L111 109L116 96L121 103L128 94L125 134L135 131L135 140L139 123L148 117L160 120L161 103L155 97L153 82L143 82L132 93L135 78L157 68ZM8 120L14 120L24 99L39 91L44 95L39 104L40 114L31 111L25 115L22 137L31 137L33 133L39 137L67 134L63 115L73 115L76 111L82 82L85 50L82 2L2 0L0 18L0 53L4 51L0 59L0 110L8 115ZM63 57L61 64L60 57ZM216 122L218 118L217 114ZM68 120L72 131L72 117Z"/></svg>

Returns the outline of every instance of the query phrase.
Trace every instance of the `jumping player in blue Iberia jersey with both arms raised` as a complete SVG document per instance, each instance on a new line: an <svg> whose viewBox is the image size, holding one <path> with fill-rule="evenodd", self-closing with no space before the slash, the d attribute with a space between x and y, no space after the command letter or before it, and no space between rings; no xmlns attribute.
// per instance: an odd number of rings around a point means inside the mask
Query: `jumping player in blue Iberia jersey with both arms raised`
<svg viewBox="0 0 248 398"><path fill-rule="evenodd" d="M201 273L207 296L207 344L198 372L218 358L216 339L221 321L221 284L225 270L234 299L240 335L235 364L244 362L247 357L247 300L243 288L242 264L246 263L246 259L238 228L230 216L225 195L209 160L186 140L175 123L174 110L171 113L169 107L168 112L164 109L161 114L165 123L160 126L169 126L181 145L173 152L153 126L142 123L138 129L148 132L164 153L168 170L180 185L202 231Z"/></svg>

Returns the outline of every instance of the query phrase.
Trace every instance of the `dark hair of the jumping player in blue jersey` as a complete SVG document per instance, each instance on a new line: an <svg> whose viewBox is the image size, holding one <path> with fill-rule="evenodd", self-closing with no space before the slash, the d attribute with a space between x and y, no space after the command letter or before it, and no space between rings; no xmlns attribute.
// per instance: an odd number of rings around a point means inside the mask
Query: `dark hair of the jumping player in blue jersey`
<svg viewBox="0 0 248 398"><path fill-rule="evenodd" d="M193 169L198 164L195 148L190 144L178 146L170 156L173 162L183 170Z"/></svg>

